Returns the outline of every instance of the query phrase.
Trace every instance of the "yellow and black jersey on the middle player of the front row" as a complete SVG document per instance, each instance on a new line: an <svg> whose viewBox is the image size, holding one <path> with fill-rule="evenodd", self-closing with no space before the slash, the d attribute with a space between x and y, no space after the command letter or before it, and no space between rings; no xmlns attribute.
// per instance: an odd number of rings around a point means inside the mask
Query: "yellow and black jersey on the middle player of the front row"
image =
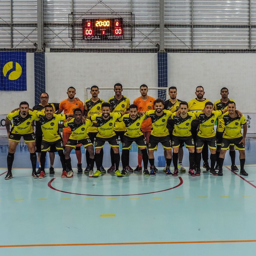
<svg viewBox="0 0 256 256"><path fill-rule="evenodd" d="M145 117L145 115L137 116L134 120L130 118L130 114L125 114L120 117L118 121L123 121L126 127L125 136L137 138L143 135L143 132L141 131L141 124Z"/></svg>

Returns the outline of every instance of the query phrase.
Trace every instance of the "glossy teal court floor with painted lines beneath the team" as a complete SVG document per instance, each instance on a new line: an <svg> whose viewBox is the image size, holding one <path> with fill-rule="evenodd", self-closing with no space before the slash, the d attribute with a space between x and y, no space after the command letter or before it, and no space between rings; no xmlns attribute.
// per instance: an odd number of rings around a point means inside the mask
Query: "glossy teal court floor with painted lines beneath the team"
<svg viewBox="0 0 256 256"><path fill-rule="evenodd" d="M163 150L156 152L155 177L129 173L98 178L31 177L26 145L15 153L13 178L4 180L8 145L0 145L0 255L254 255L256 250L256 139L247 138L249 176L230 169L224 175L178 177L163 172ZM108 168L109 147L104 166ZM83 151L84 157L84 151ZM47 157L48 159L48 157ZM84 161L84 160L83 160ZM136 145L131 166L137 165ZM72 154L73 166L76 156ZM236 164L239 167L237 152ZM47 162L47 165L49 163ZM83 168L85 165L83 163ZM201 169L203 171L203 169Z"/></svg>

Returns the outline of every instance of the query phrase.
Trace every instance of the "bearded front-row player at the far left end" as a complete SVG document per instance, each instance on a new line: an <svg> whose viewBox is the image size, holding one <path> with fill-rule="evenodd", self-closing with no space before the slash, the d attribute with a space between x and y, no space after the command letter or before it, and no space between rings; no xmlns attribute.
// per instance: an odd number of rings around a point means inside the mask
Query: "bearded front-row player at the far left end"
<svg viewBox="0 0 256 256"><path fill-rule="evenodd" d="M12 120L12 129L10 131ZM20 108L12 113L9 113L6 117L5 126L9 138L9 151L7 155L8 172L5 177L6 180L12 178L14 154L21 137L23 137L30 153L32 177L38 178L38 175L36 174L35 134L32 128L32 122L34 120L38 120L38 117L29 110L28 102L20 102Z"/></svg>

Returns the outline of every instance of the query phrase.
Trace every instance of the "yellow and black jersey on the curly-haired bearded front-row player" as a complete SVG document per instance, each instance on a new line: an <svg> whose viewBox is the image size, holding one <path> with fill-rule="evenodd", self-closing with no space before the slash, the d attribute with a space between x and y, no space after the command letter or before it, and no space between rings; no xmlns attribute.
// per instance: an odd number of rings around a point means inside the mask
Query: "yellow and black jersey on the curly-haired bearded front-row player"
<svg viewBox="0 0 256 256"><path fill-rule="evenodd" d="M157 116L155 112L155 110L150 110L145 113L146 118L151 118L152 121L151 134L156 137L169 135L166 125L168 118L172 115L172 111L164 109L161 116Z"/></svg>

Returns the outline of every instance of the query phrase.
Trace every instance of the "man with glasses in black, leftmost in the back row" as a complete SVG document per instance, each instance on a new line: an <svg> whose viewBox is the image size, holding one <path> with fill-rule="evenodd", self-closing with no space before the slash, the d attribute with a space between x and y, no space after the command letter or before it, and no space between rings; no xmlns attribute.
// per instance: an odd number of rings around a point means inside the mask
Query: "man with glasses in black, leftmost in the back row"
<svg viewBox="0 0 256 256"><path fill-rule="evenodd" d="M48 93L41 93L40 101L41 101L41 103L39 105L35 105L33 107L33 110L42 111L45 108L45 106L50 104L53 107L54 113L56 111L58 111L59 103L48 103L48 101L49 101ZM38 163L39 163L39 168L38 168L38 171L36 172L37 174L41 173L40 157L41 157L41 142L42 142L42 139L43 139L43 133L42 133L40 122L35 121L35 152L38 153ZM55 159L55 152L57 152L56 148L50 148L50 150L49 150L49 157L50 157L49 172L50 172L50 174L54 174L53 163L54 163L54 159Z"/></svg>

